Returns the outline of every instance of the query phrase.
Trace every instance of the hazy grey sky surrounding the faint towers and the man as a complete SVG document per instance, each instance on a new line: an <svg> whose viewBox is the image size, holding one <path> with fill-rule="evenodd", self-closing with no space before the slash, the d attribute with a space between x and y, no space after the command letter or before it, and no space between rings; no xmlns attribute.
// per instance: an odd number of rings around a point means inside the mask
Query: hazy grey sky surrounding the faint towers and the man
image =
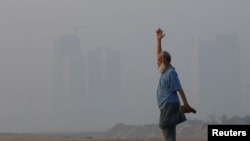
<svg viewBox="0 0 250 141"><path fill-rule="evenodd" d="M250 98L249 5L249 0L1 0L0 132L61 128L51 120L53 40L75 30L84 53L99 47L121 51L124 116L120 122L158 122L159 73L154 56L158 27L167 34L163 48L173 56L191 105L196 101L188 93L192 88L186 68L192 66L186 52L192 40L214 41L218 33L237 32L242 46L242 90ZM250 107L247 100L241 104ZM100 124L100 128L111 126ZM97 128L69 126L68 130Z"/></svg>

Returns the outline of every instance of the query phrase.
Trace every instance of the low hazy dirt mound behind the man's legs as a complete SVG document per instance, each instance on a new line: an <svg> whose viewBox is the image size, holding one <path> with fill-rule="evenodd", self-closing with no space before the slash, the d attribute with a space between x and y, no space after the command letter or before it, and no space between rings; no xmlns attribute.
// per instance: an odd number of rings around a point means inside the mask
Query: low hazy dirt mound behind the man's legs
<svg viewBox="0 0 250 141"><path fill-rule="evenodd" d="M102 133L102 138L162 138L158 125L126 125L119 123ZM201 122L184 122L177 126L178 138L206 138L207 125Z"/></svg>

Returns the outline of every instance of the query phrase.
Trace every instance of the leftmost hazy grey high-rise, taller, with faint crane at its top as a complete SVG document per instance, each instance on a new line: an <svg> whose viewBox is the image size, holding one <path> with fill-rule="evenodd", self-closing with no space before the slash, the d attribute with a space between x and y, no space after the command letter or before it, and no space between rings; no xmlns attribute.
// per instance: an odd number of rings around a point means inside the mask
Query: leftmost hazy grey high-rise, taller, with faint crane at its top
<svg viewBox="0 0 250 141"><path fill-rule="evenodd" d="M54 41L55 112L81 118L84 110L85 69L80 39L66 35Z"/></svg>

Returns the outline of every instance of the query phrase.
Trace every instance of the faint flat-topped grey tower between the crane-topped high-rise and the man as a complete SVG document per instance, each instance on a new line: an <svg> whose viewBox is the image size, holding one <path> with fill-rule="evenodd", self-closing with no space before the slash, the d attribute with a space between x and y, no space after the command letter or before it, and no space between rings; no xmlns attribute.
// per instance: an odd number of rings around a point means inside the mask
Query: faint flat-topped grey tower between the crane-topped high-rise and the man
<svg viewBox="0 0 250 141"><path fill-rule="evenodd" d="M89 51L88 82L89 114L116 122L120 111L120 52L109 48Z"/></svg>

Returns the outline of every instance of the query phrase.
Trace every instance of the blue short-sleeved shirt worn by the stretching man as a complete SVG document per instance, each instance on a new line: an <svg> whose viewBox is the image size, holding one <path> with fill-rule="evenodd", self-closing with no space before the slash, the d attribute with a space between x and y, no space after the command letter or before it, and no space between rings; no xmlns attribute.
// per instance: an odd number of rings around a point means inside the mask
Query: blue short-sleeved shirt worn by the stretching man
<svg viewBox="0 0 250 141"><path fill-rule="evenodd" d="M157 88L157 103L159 109L163 109L169 102L180 102L177 91L181 89L181 83L174 67L170 67L161 74Z"/></svg>

